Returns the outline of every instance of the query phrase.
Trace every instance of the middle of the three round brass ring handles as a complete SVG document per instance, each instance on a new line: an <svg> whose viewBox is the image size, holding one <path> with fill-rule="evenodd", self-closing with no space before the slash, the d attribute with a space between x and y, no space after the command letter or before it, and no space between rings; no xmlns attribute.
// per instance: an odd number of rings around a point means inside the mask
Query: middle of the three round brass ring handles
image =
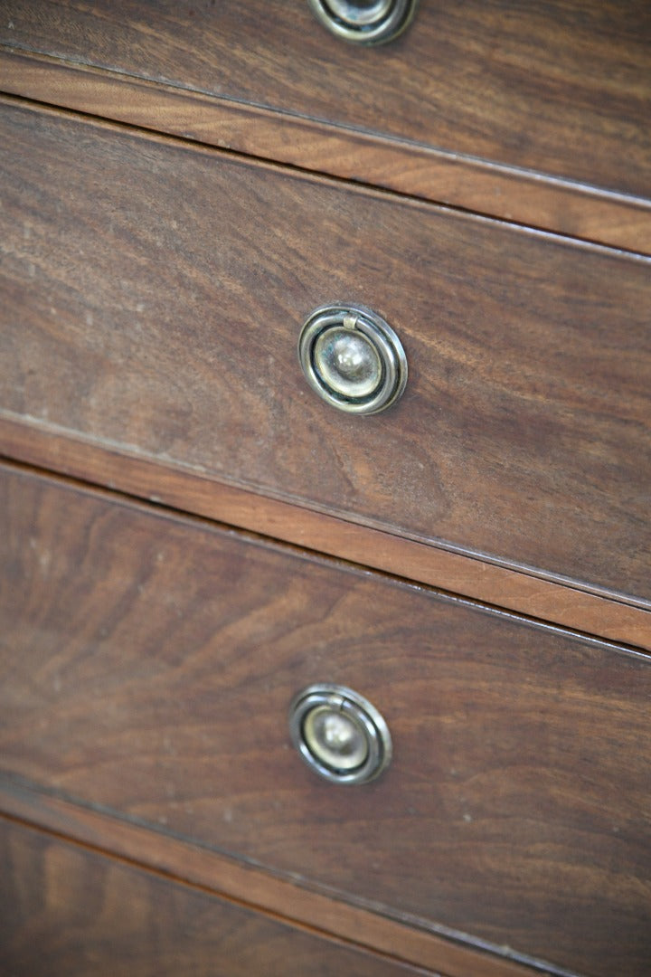
<svg viewBox="0 0 651 977"><path fill-rule="evenodd" d="M363 306L322 306L299 339L305 378L319 397L348 413L377 414L407 383L407 359L390 325Z"/></svg>

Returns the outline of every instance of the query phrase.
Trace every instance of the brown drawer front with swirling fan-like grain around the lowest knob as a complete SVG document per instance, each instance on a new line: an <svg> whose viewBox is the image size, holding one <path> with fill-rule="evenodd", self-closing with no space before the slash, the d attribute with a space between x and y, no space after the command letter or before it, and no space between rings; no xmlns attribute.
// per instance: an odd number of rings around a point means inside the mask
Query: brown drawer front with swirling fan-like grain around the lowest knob
<svg viewBox="0 0 651 977"><path fill-rule="evenodd" d="M4 472L11 776L580 972L651 960L648 658ZM313 682L380 709L367 786L308 770Z"/></svg>

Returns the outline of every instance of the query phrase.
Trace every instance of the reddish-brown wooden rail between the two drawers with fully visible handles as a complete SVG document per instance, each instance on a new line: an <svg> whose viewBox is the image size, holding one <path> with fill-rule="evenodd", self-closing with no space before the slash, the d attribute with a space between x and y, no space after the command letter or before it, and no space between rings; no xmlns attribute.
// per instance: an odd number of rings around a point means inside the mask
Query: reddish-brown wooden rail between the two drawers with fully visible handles
<svg viewBox="0 0 651 977"><path fill-rule="evenodd" d="M10 458L651 652L651 611L0 416Z"/></svg>

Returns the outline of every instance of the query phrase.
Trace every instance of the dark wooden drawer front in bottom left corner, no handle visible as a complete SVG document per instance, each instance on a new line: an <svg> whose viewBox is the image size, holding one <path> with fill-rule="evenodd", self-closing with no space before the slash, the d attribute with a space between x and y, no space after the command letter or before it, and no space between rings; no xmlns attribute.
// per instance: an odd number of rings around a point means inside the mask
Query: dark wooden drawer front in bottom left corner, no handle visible
<svg viewBox="0 0 651 977"><path fill-rule="evenodd" d="M0 864L0 969L12 977L417 973L4 819Z"/></svg>

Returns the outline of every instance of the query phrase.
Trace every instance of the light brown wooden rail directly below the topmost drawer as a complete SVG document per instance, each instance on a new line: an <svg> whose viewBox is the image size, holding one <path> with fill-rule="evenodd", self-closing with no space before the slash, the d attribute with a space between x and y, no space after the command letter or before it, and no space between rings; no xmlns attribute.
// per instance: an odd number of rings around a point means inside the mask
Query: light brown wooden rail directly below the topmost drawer
<svg viewBox="0 0 651 977"><path fill-rule="evenodd" d="M651 200L0 48L0 91L651 254Z"/></svg>

